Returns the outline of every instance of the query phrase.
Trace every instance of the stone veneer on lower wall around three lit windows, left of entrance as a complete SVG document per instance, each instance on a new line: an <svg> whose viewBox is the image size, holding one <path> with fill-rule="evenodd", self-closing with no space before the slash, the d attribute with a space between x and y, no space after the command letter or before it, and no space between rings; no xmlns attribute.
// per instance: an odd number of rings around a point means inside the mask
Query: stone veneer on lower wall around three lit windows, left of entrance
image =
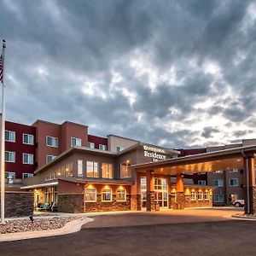
<svg viewBox="0 0 256 256"><path fill-rule="evenodd" d="M116 195L113 195L113 201L102 201L102 195L96 195L96 202L85 202L85 212L113 212L131 210L131 195L126 195L126 201L116 201ZM83 194L59 194L58 212L79 213L84 212Z"/></svg>

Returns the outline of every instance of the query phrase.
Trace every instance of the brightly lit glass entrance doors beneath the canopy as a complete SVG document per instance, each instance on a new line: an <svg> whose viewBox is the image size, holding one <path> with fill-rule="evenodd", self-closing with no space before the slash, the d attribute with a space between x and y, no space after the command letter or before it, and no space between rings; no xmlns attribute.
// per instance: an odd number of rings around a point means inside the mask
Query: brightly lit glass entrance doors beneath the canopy
<svg viewBox="0 0 256 256"><path fill-rule="evenodd" d="M167 178L154 178L154 201L160 205L160 208L168 208L168 186Z"/></svg>

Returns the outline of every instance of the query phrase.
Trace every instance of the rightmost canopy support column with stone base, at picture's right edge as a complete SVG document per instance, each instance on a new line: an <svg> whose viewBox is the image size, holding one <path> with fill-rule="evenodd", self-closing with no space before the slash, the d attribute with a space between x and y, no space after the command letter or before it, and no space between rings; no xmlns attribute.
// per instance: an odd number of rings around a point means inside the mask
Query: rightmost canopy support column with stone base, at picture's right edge
<svg viewBox="0 0 256 256"><path fill-rule="evenodd" d="M245 184L244 212L256 213L256 187L255 187L255 162L254 154L247 155L243 159L243 172Z"/></svg>

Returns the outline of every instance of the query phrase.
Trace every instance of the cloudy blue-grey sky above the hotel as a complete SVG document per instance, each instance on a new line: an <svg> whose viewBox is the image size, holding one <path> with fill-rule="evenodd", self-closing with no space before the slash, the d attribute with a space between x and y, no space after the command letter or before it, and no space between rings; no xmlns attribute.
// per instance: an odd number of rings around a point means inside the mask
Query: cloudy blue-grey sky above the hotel
<svg viewBox="0 0 256 256"><path fill-rule="evenodd" d="M7 119L165 147L256 137L255 1L0 2Z"/></svg>

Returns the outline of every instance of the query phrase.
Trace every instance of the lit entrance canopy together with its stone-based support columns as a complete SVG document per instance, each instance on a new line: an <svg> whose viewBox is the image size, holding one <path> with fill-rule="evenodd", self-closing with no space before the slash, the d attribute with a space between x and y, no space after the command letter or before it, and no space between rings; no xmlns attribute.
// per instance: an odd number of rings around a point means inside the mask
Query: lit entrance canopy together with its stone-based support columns
<svg viewBox="0 0 256 256"><path fill-rule="evenodd" d="M184 184L183 174L198 172L214 172L227 169L243 169L243 186L245 192L245 212L253 214L256 212L256 188L255 188L255 157L256 145L230 148L219 151L213 151L204 154L195 154L176 159L160 160L158 162L149 162L132 166L140 175L146 177L146 208L147 211L154 210L155 202L163 201L163 194L155 193L154 178L159 176L176 176L176 200L180 208L183 208ZM162 190L162 184L160 185ZM145 199L144 199L145 200Z"/></svg>

